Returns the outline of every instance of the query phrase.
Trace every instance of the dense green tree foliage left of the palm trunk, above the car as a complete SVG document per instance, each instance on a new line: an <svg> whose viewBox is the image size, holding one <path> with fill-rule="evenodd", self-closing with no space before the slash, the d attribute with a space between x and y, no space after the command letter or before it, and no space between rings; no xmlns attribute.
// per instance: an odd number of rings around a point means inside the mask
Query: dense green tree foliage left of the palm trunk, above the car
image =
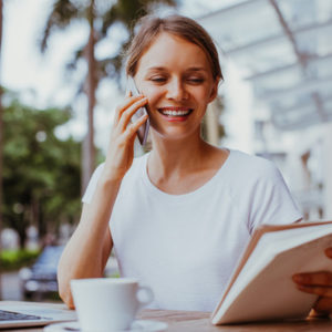
<svg viewBox="0 0 332 332"><path fill-rule="evenodd" d="M3 220L22 247L29 225L43 236L80 214L81 144L54 134L70 117L69 110L40 111L18 101L4 107Z"/></svg>

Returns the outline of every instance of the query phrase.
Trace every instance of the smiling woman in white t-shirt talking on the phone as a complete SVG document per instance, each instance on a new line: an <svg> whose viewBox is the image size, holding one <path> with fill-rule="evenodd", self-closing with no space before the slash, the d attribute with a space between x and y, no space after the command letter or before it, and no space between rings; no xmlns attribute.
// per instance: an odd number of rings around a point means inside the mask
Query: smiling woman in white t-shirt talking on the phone
<svg viewBox="0 0 332 332"><path fill-rule="evenodd" d="M102 277L113 248L122 276L152 287L153 308L210 311L253 229L301 215L270 162L201 138L222 73L199 24L179 15L145 18L126 72L142 95L116 108L106 160L91 179L59 266L60 294L73 307L70 280ZM147 115L131 118L141 106L148 107L153 149L134 159Z"/></svg>

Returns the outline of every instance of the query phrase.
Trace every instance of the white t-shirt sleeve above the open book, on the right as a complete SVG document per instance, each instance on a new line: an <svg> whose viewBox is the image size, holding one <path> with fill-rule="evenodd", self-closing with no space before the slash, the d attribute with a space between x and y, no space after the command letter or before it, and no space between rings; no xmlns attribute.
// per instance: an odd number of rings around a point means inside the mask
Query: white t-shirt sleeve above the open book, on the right
<svg viewBox="0 0 332 332"><path fill-rule="evenodd" d="M251 195L249 231L262 224L284 225L302 219L279 169L267 163Z"/></svg>

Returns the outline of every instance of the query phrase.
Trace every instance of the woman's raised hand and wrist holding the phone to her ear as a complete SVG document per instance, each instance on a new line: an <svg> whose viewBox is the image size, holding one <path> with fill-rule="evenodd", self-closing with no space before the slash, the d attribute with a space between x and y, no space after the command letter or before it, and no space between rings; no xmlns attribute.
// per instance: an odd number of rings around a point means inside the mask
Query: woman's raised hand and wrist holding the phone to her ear
<svg viewBox="0 0 332 332"><path fill-rule="evenodd" d="M143 95L128 96L116 107L104 167L108 179L121 180L133 164L136 132L148 116L144 115L134 123L131 118L145 104L147 98Z"/></svg>

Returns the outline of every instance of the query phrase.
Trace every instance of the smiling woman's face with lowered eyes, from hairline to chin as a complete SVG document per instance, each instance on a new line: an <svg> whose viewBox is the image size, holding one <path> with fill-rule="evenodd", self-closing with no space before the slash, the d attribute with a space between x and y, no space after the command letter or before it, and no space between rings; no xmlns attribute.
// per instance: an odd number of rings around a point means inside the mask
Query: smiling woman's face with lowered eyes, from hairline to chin
<svg viewBox="0 0 332 332"><path fill-rule="evenodd" d="M200 122L217 94L218 80L214 80L198 45L160 33L141 58L135 81L148 98L156 134L167 139L200 134Z"/></svg>

